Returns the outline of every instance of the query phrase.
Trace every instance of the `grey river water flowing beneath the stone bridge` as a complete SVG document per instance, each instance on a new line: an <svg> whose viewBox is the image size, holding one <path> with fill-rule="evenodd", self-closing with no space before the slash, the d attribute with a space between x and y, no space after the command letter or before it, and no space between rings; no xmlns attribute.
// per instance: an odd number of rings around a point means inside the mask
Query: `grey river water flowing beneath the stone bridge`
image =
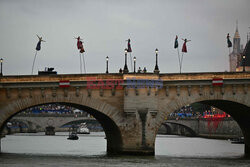
<svg viewBox="0 0 250 167"><path fill-rule="evenodd" d="M8 135L1 140L1 167L30 166L250 166L244 159L244 145L227 140L158 135L155 156L107 156L104 133L79 135L67 140L67 133Z"/></svg>

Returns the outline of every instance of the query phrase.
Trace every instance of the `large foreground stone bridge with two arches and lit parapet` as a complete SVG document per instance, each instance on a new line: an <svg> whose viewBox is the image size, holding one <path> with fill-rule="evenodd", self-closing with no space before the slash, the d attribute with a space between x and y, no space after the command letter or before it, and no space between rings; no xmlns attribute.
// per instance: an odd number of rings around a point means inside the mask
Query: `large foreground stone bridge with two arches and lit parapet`
<svg viewBox="0 0 250 167"><path fill-rule="evenodd" d="M222 78L223 85L214 86L213 78ZM69 87L60 86L60 81L68 82ZM100 122L108 153L153 155L156 134L166 116L200 102L237 121L249 155L249 85L249 72L2 76L0 126L27 108L65 104L87 111Z"/></svg>

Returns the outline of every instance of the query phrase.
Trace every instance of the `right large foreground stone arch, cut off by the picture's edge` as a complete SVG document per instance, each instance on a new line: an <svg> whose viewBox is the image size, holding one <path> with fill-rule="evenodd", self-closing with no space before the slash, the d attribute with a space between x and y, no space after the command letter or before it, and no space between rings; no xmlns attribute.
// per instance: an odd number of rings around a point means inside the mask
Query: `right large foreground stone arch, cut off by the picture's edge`
<svg viewBox="0 0 250 167"><path fill-rule="evenodd" d="M241 93L241 92L240 92ZM240 97L240 98L239 98ZM193 95L192 97L188 95L177 96L171 101L165 101L160 105L160 116L158 120L157 129L164 123L168 114L180 109L183 106L193 103L202 103L210 106L214 106L224 112L230 114L232 118L240 126L245 140L245 154L249 156L250 154L250 99L249 96L234 96L234 95ZM167 108L167 110L166 110Z"/></svg>

